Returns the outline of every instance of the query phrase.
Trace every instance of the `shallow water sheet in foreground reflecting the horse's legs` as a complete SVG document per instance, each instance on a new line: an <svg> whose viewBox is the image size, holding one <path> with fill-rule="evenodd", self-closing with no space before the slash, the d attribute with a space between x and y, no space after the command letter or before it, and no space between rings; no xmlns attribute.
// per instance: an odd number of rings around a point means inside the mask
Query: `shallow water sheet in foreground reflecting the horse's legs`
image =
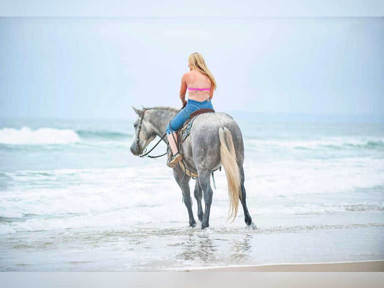
<svg viewBox="0 0 384 288"><path fill-rule="evenodd" d="M364 261L383 259L383 239L378 223L23 232L2 237L0 265L3 271L157 271Z"/></svg>

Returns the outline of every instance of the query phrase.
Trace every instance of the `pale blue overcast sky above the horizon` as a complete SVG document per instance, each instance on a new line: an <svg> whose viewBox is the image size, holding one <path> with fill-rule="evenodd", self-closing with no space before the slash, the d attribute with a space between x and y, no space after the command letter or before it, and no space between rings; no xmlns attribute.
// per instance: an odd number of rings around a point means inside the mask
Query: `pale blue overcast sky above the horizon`
<svg viewBox="0 0 384 288"><path fill-rule="evenodd" d="M217 111L384 115L384 18L2 17L0 116L181 107L194 52Z"/></svg>

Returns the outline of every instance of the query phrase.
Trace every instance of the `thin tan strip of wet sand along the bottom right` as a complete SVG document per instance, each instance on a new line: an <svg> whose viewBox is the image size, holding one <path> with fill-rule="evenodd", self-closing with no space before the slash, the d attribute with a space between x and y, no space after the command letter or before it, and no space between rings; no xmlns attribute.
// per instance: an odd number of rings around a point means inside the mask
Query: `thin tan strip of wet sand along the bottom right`
<svg viewBox="0 0 384 288"><path fill-rule="evenodd" d="M384 260L363 262L224 266L184 271L220 272L384 272Z"/></svg>

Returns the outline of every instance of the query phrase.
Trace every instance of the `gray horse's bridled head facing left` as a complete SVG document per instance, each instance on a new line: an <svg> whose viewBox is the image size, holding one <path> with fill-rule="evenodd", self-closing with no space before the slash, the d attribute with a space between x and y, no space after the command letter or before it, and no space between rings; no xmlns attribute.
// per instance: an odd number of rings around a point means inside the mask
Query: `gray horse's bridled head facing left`
<svg viewBox="0 0 384 288"><path fill-rule="evenodd" d="M131 152L137 156L144 153L148 144L156 138L156 133L154 132L152 123L149 121L150 113L145 113L145 111L147 111L145 108L142 110L136 109L135 107L132 108L138 116L136 121L133 122L135 135L131 145Z"/></svg>

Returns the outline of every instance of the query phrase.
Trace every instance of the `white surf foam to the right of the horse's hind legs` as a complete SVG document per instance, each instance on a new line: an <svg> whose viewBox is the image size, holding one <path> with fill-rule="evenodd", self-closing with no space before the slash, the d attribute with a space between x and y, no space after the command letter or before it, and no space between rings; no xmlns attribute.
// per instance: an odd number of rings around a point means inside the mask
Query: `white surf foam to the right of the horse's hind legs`
<svg viewBox="0 0 384 288"><path fill-rule="evenodd" d="M381 159L245 161L247 197L332 194L384 185ZM221 180L223 181L223 180Z"/></svg>

